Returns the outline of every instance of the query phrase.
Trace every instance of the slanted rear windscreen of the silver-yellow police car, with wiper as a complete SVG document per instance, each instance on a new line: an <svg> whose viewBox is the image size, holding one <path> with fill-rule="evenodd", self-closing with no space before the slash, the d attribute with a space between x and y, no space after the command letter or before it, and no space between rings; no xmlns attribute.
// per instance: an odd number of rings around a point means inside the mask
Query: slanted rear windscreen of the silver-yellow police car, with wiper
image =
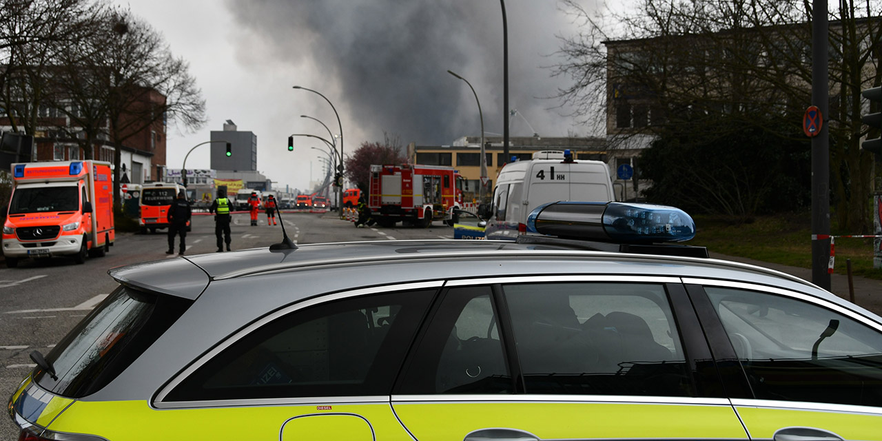
<svg viewBox="0 0 882 441"><path fill-rule="evenodd" d="M190 300L119 287L46 356L56 377L37 368L49 392L80 398L108 385L168 330Z"/></svg>

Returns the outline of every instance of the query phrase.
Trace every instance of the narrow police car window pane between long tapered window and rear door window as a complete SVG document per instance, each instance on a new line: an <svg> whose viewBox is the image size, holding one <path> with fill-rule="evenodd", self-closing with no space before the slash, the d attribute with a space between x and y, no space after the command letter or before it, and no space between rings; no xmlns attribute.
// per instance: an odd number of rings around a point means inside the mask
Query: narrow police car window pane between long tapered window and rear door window
<svg viewBox="0 0 882 441"><path fill-rule="evenodd" d="M490 287L452 288L410 356L398 393L510 393Z"/></svg>

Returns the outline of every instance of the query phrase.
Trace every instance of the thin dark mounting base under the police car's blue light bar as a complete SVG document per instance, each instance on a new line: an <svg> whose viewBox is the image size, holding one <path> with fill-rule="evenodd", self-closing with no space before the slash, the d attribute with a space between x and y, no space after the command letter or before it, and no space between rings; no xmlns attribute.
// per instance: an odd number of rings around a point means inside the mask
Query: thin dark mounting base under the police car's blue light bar
<svg viewBox="0 0 882 441"><path fill-rule="evenodd" d="M557 245L579 250L621 252L628 254L651 254L656 256L676 256L683 258L710 258L706 247L675 245L669 243L612 243L567 239L545 235L519 235L517 243Z"/></svg>

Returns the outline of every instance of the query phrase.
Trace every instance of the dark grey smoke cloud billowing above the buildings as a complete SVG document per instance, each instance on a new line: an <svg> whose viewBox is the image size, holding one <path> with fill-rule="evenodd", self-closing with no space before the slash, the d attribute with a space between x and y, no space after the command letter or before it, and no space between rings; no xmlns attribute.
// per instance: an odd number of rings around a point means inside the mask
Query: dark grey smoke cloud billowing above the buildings
<svg viewBox="0 0 882 441"><path fill-rule="evenodd" d="M474 96L448 69L475 86L485 130L502 132L502 19L495 0L228 0L227 5L240 31L263 42L263 49L238 49L270 51L257 58L272 60L274 69L290 65L292 85L298 71L312 70L310 78L322 81L302 86L329 95L345 114L348 133L355 124L370 140L388 131L421 145L476 135ZM573 32L558 6L555 0L506 2L510 107L544 136L585 134L587 129L562 116L565 109L549 110L558 101L542 99L564 86L543 68L557 59L556 35ZM512 119L512 136L529 134L523 119Z"/></svg>

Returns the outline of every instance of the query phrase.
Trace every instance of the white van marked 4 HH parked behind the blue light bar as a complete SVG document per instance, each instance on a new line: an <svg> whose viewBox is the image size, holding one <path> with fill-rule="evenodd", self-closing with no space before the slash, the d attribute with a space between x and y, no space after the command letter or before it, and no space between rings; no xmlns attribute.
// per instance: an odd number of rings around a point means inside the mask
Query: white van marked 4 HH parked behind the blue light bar
<svg viewBox="0 0 882 441"><path fill-rule="evenodd" d="M506 164L497 176L484 236L489 240L515 240L527 232L530 212L562 200L616 200L607 165L602 161L573 161L569 150L536 152L531 161Z"/></svg>

